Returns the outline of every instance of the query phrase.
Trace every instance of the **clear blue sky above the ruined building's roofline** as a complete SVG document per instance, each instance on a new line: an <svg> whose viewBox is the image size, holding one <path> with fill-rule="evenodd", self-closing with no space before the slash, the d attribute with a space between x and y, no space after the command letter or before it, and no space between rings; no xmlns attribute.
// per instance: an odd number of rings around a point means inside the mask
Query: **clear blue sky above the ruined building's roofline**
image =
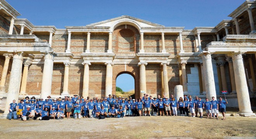
<svg viewBox="0 0 256 139"><path fill-rule="evenodd" d="M34 25L87 25L130 15L166 27L216 26L245 0L6 0Z"/></svg>

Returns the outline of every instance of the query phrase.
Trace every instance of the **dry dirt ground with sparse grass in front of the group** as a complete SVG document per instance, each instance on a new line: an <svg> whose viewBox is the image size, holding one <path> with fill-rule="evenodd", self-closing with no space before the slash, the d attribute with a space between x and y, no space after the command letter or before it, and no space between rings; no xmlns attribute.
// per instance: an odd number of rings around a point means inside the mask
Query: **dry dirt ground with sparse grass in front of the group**
<svg viewBox="0 0 256 139"><path fill-rule="evenodd" d="M199 117L150 116L106 119L8 120L0 119L1 139L89 138L256 138L256 117L226 120ZM238 137L238 138L237 138Z"/></svg>

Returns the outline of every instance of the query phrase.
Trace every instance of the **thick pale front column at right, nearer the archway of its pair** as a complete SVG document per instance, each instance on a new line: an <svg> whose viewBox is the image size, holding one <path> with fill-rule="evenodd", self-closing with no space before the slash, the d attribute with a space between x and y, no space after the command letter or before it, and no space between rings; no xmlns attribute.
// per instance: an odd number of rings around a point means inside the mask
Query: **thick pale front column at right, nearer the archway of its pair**
<svg viewBox="0 0 256 139"><path fill-rule="evenodd" d="M204 64L204 73L205 73L205 90L206 98L211 100L211 97L216 98L216 89L213 75L213 64L211 62L211 53L201 53L203 64Z"/></svg>

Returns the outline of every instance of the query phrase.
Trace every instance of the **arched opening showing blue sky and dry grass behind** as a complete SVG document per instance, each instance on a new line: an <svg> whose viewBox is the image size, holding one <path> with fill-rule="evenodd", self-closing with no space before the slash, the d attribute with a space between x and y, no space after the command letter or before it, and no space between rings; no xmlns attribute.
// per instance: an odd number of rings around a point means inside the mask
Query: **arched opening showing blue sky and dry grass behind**
<svg viewBox="0 0 256 139"><path fill-rule="evenodd" d="M135 98L135 78L128 73L120 73L116 77L116 96Z"/></svg>

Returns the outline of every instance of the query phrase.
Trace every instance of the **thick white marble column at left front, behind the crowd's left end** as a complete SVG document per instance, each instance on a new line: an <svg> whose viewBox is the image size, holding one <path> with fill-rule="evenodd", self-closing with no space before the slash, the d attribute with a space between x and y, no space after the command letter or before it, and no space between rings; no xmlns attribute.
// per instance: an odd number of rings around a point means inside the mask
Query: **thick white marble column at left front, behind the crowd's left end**
<svg viewBox="0 0 256 139"><path fill-rule="evenodd" d="M22 52L14 53L12 59L12 69L10 73L10 83L8 87L8 93L6 98L6 105L3 115L9 114L9 104L12 103L12 100L18 102L19 90L21 86L21 69L23 56Z"/></svg>

